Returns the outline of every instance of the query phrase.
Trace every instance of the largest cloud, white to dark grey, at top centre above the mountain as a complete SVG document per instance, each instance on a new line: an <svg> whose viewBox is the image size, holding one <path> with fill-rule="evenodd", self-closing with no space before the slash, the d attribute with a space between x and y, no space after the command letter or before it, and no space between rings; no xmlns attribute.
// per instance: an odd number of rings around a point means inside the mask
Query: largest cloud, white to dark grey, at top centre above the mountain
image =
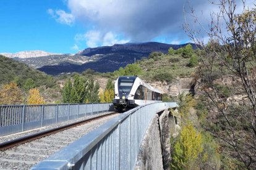
<svg viewBox="0 0 256 170"><path fill-rule="evenodd" d="M133 42L151 41L158 36L187 38L182 30L183 6L187 0L68 0L72 14L86 25L103 33L122 34ZM208 1L194 0L198 12ZM207 9L207 11L209 11Z"/></svg>

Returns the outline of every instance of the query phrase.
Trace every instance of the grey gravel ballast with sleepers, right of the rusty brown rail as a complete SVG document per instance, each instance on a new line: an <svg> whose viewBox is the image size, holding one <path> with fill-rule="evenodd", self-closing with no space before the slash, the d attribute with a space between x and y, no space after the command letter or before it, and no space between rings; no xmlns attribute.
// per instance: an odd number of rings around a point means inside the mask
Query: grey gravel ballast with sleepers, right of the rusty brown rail
<svg viewBox="0 0 256 170"><path fill-rule="evenodd" d="M119 114L116 113L105 118L90 121L89 123L0 152L0 169L30 169L39 161L45 160L45 158L48 158L61 148L66 147L117 115Z"/></svg>

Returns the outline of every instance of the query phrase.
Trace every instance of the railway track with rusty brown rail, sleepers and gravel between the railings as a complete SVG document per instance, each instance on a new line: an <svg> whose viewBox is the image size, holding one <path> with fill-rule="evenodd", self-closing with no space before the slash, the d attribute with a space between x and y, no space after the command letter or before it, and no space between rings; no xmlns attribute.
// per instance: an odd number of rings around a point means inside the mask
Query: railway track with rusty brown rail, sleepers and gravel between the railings
<svg viewBox="0 0 256 170"><path fill-rule="evenodd" d="M117 115L109 113L4 142L0 144L0 169L30 169Z"/></svg>

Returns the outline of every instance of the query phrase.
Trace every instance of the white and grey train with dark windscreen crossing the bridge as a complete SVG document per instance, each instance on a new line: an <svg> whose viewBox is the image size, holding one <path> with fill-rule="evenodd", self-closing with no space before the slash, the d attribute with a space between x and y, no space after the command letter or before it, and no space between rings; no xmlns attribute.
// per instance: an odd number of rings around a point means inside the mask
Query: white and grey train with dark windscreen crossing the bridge
<svg viewBox="0 0 256 170"><path fill-rule="evenodd" d="M159 102L162 92L144 83L138 77L121 76L114 83L114 94L114 107L117 110L124 110L146 103Z"/></svg>

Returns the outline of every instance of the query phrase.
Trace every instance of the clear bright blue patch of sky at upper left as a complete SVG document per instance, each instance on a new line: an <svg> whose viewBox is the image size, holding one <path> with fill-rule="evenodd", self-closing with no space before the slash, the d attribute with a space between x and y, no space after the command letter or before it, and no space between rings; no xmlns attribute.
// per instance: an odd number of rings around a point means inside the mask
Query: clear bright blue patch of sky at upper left
<svg viewBox="0 0 256 170"><path fill-rule="evenodd" d="M48 14L48 9L66 9L63 1L1 0L0 52L43 50L74 53L74 35L79 25L63 25Z"/></svg>

